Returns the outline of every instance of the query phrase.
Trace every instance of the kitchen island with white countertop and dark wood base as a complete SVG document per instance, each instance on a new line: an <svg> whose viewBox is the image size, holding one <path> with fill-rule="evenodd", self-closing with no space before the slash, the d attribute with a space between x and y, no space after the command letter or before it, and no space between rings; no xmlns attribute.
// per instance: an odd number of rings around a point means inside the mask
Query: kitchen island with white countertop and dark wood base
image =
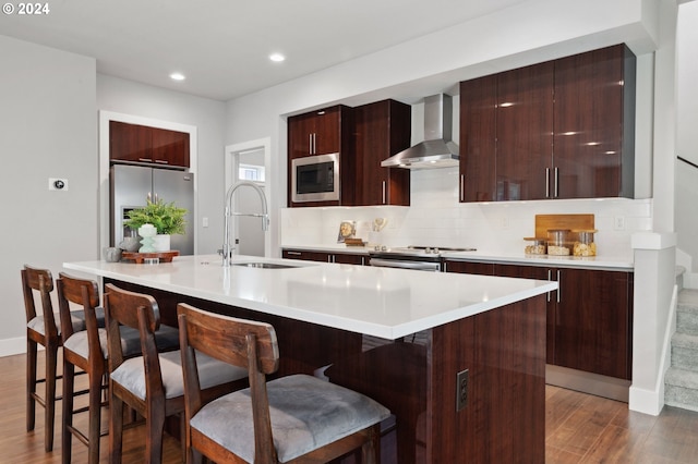
<svg viewBox="0 0 698 464"><path fill-rule="evenodd" d="M165 323L179 302L273 323L280 375L325 375L390 408L395 462L544 462L556 282L249 256L64 268L152 294Z"/></svg>

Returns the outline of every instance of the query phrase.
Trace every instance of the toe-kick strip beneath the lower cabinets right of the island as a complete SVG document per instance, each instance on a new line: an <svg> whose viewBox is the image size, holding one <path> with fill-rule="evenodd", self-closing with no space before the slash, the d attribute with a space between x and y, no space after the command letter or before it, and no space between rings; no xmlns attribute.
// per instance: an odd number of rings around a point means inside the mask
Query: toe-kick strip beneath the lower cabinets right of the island
<svg viewBox="0 0 698 464"><path fill-rule="evenodd" d="M545 382L627 403L630 381L562 366L545 365Z"/></svg>

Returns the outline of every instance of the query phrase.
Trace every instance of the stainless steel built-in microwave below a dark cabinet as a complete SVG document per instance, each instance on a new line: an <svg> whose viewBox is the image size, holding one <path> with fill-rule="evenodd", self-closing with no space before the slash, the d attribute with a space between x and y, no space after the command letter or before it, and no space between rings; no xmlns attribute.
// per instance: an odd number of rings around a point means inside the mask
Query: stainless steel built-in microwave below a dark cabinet
<svg viewBox="0 0 698 464"><path fill-rule="evenodd" d="M339 200L339 154L306 156L291 161L291 200Z"/></svg>

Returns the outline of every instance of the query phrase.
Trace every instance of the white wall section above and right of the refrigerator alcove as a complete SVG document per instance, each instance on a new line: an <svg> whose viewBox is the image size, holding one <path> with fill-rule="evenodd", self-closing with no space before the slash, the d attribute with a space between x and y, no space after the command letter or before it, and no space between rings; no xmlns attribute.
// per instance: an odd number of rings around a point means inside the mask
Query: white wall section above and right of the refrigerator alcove
<svg viewBox="0 0 698 464"><path fill-rule="evenodd" d="M97 108L196 127L196 249L215 253L222 237L225 103L98 74ZM208 218L207 228L203 218Z"/></svg>

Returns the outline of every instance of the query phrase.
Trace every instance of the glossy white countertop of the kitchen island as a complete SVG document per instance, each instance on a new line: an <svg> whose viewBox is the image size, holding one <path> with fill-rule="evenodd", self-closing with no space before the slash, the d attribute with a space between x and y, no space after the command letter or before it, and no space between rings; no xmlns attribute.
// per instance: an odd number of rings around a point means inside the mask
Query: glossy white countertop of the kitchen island
<svg viewBox="0 0 698 464"><path fill-rule="evenodd" d="M234 266L245 262L297 267ZM549 281L253 256L234 256L230 268L221 267L217 255L159 265L82 261L63 267L390 340L557 289Z"/></svg>

